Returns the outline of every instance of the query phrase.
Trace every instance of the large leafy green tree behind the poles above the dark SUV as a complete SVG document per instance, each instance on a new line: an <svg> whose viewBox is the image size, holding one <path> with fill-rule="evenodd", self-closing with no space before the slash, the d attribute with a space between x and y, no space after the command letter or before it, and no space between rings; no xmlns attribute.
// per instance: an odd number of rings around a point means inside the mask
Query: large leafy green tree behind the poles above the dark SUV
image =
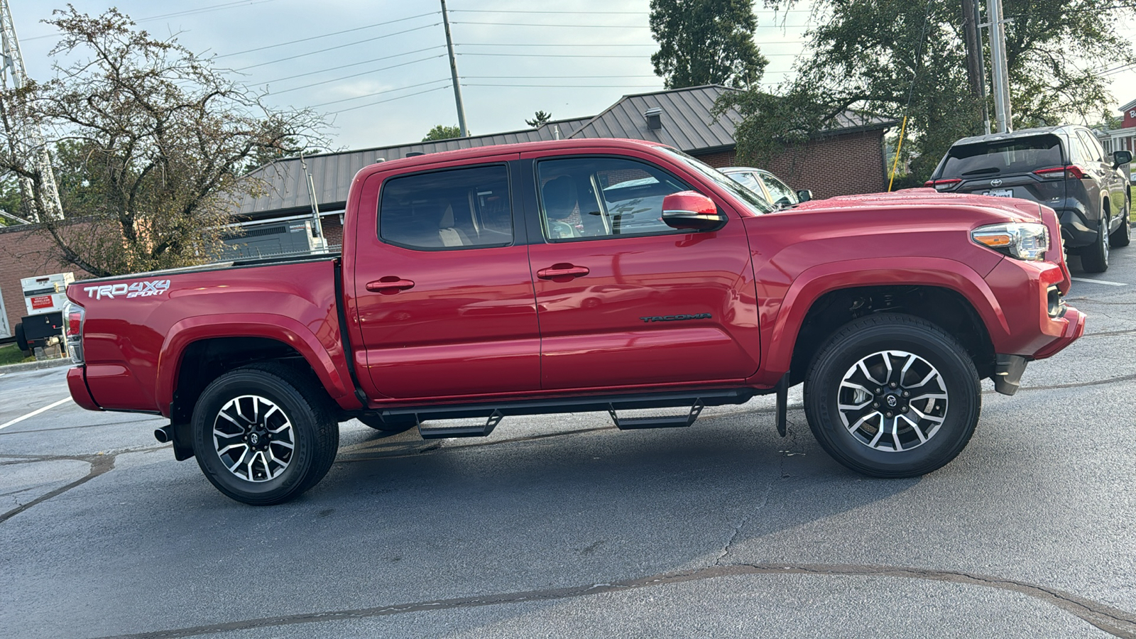
<svg viewBox="0 0 1136 639"><path fill-rule="evenodd" d="M766 5L787 9L797 1ZM1016 128L1091 122L1106 110L1106 78L1085 67L1100 65L1104 51L1109 65L1136 58L1117 28L1122 14L1134 14L1125 7L1113 0L1004 0L1013 18L1006 58ZM853 109L908 116L900 164L913 158L912 180L925 180L955 140L980 130L958 0L815 0L813 10L825 19L808 32L793 82L776 94L750 90L718 105L719 113L733 106L744 118L736 133L740 161L768 161Z"/></svg>

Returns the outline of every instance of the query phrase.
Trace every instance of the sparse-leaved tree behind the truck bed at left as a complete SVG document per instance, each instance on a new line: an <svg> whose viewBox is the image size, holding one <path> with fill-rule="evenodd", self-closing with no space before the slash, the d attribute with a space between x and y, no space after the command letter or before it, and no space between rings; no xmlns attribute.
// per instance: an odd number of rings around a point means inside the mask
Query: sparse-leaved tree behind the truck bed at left
<svg viewBox="0 0 1136 639"><path fill-rule="evenodd" d="M114 275L211 259L233 201L264 186L241 177L248 161L323 143L314 113L266 107L262 94L116 9L92 17L68 7L48 24L61 32L51 55L76 61L0 93L0 103L40 126L53 150L68 219L36 213L62 265ZM0 169L42 186L14 144L0 144Z"/></svg>

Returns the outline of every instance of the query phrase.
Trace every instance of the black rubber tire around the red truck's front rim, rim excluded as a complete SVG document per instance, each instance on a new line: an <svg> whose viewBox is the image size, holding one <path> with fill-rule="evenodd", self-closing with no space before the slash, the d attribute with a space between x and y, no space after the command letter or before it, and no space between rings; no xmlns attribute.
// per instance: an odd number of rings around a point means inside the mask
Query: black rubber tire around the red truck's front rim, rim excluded
<svg viewBox="0 0 1136 639"><path fill-rule="evenodd" d="M820 445L838 462L879 476L929 473L953 459L966 447L978 422L982 387L969 356L953 340L911 324L864 327L837 338L813 362L805 387L809 425ZM953 343L952 343L953 342ZM837 410L840 383L860 359L884 350L914 354L938 370L947 393L946 418L938 431L916 448L893 453L869 448L844 428Z"/></svg>

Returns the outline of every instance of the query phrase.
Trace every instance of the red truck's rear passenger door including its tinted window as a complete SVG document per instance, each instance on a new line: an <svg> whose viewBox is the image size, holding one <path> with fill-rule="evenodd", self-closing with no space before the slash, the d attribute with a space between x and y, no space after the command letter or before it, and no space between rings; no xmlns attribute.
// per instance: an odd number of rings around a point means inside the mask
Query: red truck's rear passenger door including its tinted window
<svg viewBox="0 0 1136 639"><path fill-rule="evenodd" d="M516 157L379 173L365 183L354 256L357 362L379 397L540 388L533 283L517 231L524 222L513 224L508 160Z"/></svg>

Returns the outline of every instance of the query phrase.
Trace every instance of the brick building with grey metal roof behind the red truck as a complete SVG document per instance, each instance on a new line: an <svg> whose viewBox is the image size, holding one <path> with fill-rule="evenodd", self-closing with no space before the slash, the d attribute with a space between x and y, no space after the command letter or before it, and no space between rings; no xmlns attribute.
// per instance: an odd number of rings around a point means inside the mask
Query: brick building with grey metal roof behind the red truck
<svg viewBox="0 0 1136 639"><path fill-rule="evenodd" d="M342 213L351 179L362 167L416 153L432 153L469 147L582 138L632 138L669 144L716 167L736 165L734 126L736 111L715 117L715 101L732 91L720 85L692 86L624 96L603 113L582 118L558 119L536 128L323 153L306 158L312 176L320 222L327 246L342 242ZM793 189L810 189L817 198L870 193L887 188L884 165L884 133L894 121L847 113L836 126L801 149L785 152L769 166ZM254 230L286 227L311 218L308 184L299 159L286 159L257 169L268 183L262 197L244 198L234 214L247 235ZM0 227L0 290L10 325L24 314L19 280L58 271L50 243L27 227ZM76 269L76 276L81 273Z"/></svg>

